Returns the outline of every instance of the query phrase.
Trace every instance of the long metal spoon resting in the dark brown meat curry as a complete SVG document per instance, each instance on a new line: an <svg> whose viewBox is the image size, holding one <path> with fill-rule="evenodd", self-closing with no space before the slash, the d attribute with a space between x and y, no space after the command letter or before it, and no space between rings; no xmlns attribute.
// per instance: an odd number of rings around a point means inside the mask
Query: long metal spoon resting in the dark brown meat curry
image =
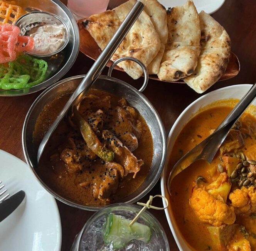
<svg viewBox="0 0 256 251"><path fill-rule="evenodd" d="M62 111L57 116L56 120L52 123L47 133L45 133L44 138L42 139L37 151L38 163L42 156L44 148L49 141L49 138L51 137L56 127L59 125L62 118L64 118L65 114L74 102L79 103L79 100L81 100L81 98L89 90L91 85L93 85L94 81L96 81L96 79L101 74L104 67L107 65L110 58L115 53L116 49L121 44L126 34L129 32L130 28L135 23L136 19L139 17L143 9L143 3L136 1L135 5L133 6L133 8L131 8L130 12L127 14L120 27L117 29L116 33L113 35L106 48L103 50L103 52L101 52L98 59L95 61L91 69L88 71L84 79L81 81L79 86L76 88L74 93L67 101Z"/></svg>

